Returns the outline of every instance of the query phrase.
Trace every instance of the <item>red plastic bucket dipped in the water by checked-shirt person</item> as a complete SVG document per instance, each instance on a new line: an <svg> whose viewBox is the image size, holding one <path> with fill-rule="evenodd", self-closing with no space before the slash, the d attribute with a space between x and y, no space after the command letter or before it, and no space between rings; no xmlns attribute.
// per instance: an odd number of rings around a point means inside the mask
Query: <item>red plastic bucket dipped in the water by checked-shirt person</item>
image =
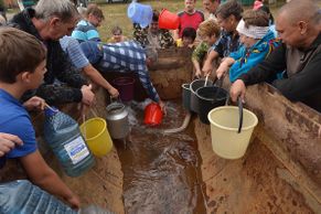
<svg viewBox="0 0 321 214"><path fill-rule="evenodd" d="M160 105L151 103L145 108L143 122L150 126L160 125L163 118L163 113Z"/></svg>

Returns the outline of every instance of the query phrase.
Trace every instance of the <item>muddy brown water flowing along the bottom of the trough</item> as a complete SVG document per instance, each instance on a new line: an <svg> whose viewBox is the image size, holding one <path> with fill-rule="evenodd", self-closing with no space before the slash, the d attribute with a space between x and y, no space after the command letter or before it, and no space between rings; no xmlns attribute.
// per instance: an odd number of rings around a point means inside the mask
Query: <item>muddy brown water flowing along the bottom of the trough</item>
<svg viewBox="0 0 321 214"><path fill-rule="evenodd" d="M160 129L180 127L184 110L168 103L168 116L158 128L142 124L143 106L132 104L131 140L115 142L124 171L125 210L129 214L206 213L200 172L201 158L191 125L180 133Z"/></svg>

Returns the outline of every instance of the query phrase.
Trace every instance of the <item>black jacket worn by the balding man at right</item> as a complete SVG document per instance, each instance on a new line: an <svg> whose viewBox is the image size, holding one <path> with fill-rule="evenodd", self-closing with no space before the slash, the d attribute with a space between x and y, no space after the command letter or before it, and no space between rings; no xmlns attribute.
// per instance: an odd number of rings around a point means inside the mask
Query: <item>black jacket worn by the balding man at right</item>
<svg viewBox="0 0 321 214"><path fill-rule="evenodd" d="M272 82L288 99L302 101L321 113L321 33L309 49L277 47L263 63L239 76L245 85L271 78L277 71L286 71L283 79Z"/></svg>

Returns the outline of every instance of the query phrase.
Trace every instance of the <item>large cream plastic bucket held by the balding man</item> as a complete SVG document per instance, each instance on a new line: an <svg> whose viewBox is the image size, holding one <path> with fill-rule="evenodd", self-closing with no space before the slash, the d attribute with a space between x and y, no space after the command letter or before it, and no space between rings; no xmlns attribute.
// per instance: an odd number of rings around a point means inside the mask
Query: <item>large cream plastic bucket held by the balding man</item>
<svg viewBox="0 0 321 214"><path fill-rule="evenodd" d="M213 151L225 159L242 158L249 143L258 119L256 115L243 108L243 128L237 133L239 113L236 106L223 106L212 109L207 118L211 122Z"/></svg>

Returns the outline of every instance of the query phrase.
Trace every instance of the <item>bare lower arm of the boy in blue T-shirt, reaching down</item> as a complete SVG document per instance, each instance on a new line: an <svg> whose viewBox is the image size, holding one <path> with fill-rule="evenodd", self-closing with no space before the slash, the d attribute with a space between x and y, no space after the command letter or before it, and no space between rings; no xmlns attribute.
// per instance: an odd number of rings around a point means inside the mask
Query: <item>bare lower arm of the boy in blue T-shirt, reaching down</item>
<svg viewBox="0 0 321 214"><path fill-rule="evenodd" d="M20 161L30 180L51 194L63 197L73 208L79 208L81 202L58 175L46 164L39 150L21 157Z"/></svg>

